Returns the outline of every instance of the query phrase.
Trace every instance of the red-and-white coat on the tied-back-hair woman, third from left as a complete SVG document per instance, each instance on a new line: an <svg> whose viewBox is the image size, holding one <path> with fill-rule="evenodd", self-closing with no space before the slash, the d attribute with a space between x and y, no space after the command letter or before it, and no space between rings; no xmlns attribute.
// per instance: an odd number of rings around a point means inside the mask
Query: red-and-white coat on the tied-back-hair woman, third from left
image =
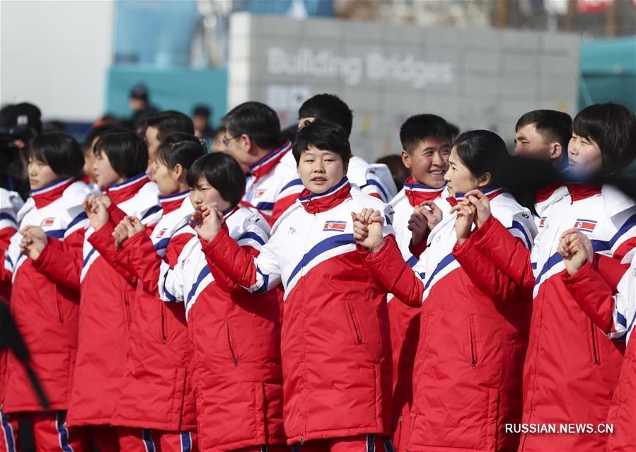
<svg viewBox="0 0 636 452"><path fill-rule="evenodd" d="M182 208L185 194L179 195L160 197L163 216L153 229L163 240L169 240L175 228L185 226L192 214L190 200L185 199L190 209ZM125 242L122 252L110 248L112 225L124 216L124 212L112 210L112 221L104 227L105 233L99 231L110 253L115 253L110 258L117 262L117 268L128 269L144 283L137 284L130 302L129 347L112 424L164 431L196 430L195 398L187 374L190 342L185 311L183 306L158 299L161 257L152 242L149 241L150 247L144 248L144 253L136 253L131 241ZM148 233L154 234L148 229ZM147 239L146 232L139 235ZM175 253L166 255L168 261L176 257Z"/></svg>

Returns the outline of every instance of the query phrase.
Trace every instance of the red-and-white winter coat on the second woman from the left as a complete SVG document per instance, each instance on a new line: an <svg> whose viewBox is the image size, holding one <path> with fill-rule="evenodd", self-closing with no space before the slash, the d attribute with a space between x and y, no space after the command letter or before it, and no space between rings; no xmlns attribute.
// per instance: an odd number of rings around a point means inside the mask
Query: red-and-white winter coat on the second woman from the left
<svg viewBox="0 0 636 452"><path fill-rule="evenodd" d="M156 185L139 175L110 187L109 211L119 207L139 216L144 223L156 223L160 211ZM119 395L128 349L130 304L136 278L123 277L109 255L97 248L115 248L108 227L87 231L81 254L69 253L62 243L51 241L36 262L41 272L67 284L80 286L79 348L73 373L69 425L110 424ZM80 282L81 281L81 282Z"/></svg>

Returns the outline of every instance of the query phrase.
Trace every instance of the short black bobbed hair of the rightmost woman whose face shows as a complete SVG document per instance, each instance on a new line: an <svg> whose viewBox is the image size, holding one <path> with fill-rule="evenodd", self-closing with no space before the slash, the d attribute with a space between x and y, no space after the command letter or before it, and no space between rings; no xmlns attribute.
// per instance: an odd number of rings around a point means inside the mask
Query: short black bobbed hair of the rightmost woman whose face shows
<svg viewBox="0 0 636 452"><path fill-rule="evenodd" d="M572 132L599 145L604 175L622 170L636 158L636 119L625 105L608 102L584 108L574 117Z"/></svg>

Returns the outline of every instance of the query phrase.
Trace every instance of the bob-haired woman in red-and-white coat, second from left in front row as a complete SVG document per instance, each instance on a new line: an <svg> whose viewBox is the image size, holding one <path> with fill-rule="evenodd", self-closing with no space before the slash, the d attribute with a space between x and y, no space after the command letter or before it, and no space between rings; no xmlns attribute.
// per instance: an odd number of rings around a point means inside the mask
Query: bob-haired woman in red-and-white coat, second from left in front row
<svg viewBox="0 0 636 452"><path fill-rule="evenodd" d="M144 173L146 144L137 134L113 130L97 142L96 174L106 195L87 199L90 227L83 246L71 250L50 239L34 241L30 249L34 267L48 278L80 289L79 347L73 373L69 415L72 426L87 427L101 452L120 449L117 429L109 427L125 371L131 322L130 303L137 279L117 269L110 253L112 229L125 214L156 224L161 214L156 184ZM96 209L103 203L107 209ZM125 213L123 213L125 212ZM109 223L117 218L114 225ZM122 274L126 274L123 276Z"/></svg>

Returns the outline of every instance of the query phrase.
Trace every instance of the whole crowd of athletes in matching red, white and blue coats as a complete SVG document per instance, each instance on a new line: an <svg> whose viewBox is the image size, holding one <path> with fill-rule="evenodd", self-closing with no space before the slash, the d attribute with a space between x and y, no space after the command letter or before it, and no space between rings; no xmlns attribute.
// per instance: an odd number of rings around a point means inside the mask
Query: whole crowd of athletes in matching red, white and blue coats
<svg viewBox="0 0 636 452"><path fill-rule="evenodd" d="M636 451L623 105L527 112L512 155L414 115L403 166L355 155L335 95L291 131L142 110L34 132L28 199L0 189L0 299L50 404L0 351L0 451L18 419L42 452Z"/></svg>

